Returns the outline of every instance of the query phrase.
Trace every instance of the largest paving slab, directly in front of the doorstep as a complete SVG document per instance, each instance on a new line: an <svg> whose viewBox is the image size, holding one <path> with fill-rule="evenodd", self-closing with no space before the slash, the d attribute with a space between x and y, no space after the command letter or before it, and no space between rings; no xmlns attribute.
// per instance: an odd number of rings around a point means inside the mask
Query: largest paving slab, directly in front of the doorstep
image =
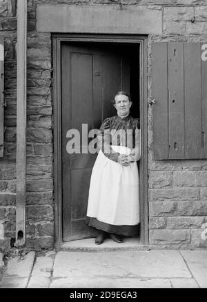
<svg viewBox="0 0 207 302"><path fill-rule="evenodd" d="M57 252L53 277L191 278L177 250Z"/></svg>

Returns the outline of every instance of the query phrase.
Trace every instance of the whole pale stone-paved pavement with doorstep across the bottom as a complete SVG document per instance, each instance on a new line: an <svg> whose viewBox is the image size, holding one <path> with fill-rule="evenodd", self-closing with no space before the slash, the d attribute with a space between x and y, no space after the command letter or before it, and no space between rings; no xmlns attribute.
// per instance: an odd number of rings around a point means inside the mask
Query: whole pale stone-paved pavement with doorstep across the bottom
<svg viewBox="0 0 207 302"><path fill-rule="evenodd" d="M140 250L133 241L109 240L13 257L0 288L207 288L206 248Z"/></svg>

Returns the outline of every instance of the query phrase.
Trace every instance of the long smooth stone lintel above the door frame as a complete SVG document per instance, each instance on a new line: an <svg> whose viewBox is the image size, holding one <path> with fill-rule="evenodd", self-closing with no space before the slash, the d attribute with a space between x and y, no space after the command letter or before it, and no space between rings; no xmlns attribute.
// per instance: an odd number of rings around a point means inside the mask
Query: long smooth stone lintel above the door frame
<svg viewBox="0 0 207 302"><path fill-rule="evenodd" d="M161 34L161 24L161 10L146 6L37 5L37 32Z"/></svg>

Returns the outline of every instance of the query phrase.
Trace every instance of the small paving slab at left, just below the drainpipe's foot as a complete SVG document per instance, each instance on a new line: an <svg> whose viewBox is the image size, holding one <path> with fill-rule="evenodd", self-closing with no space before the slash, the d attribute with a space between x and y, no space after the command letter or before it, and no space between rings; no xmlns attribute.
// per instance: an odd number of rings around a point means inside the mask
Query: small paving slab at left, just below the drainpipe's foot
<svg viewBox="0 0 207 302"><path fill-rule="evenodd" d="M14 257L8 261L8 266L3 278L14 277L29 277L32 271L34 263L35 252L28 252L28 254L21 259L20 257Z"/></svg>

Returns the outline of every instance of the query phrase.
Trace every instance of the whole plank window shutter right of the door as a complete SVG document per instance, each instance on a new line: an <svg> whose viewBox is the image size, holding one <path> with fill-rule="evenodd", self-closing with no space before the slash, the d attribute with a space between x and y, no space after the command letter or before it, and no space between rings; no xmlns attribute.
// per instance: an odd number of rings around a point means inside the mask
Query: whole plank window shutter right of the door
<svg viewBox="0 0 207 302"><path fill-rule="evenodd" d="M207 158L207 61L201 43L152 43L155 160Z"/></svg>

